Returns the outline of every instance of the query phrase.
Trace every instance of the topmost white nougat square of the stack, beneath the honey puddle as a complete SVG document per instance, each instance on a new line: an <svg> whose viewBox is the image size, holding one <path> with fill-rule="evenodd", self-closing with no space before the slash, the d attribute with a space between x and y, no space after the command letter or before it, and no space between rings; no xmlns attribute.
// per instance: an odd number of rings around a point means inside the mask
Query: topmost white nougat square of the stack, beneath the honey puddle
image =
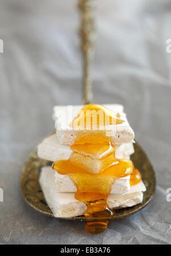
<svg viewBox="0 0 171 256"><path fill-rule="evenodd" d="M75 143L75 140L78 137L86 137L86 143L91 143L91 140L88 141L88 137L86 134L91 135L91 137L99 137L105 136L108 134L108 131L111 131L108 136L113 144L123 144L123 143L131 143L135 137L135 134L130 127L127 117L123 111L122 105L109 105L105 104L104 107L111 110L113 113L119 113L120 118L124 121L121 124L116 125L108 125L108 127L104 127L100 131L91 130L91 131L78 131L76 128L71 128L71 123L73 117L76 117L79 111L82 110L82 105L72 106L73 115L64 115L67 113L68 106L55 106L54 107L54 120L56 127L56 135L58 136L59 143L64 145L72 145ZM111 134L111 135L110 135Z"/></svg>

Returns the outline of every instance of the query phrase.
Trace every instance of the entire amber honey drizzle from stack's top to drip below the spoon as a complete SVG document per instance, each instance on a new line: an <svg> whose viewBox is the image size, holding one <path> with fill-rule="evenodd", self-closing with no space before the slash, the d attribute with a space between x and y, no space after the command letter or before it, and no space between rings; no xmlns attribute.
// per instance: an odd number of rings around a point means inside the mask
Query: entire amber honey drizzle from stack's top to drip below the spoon
<svg viewBox="0 0 171 256"><path fill-rule="evenodd" d="M84 128L86 124L92 129L94 121L91 113L87 114L87 111L91 110L103 111L103 114L108 117L107 124L123 123L119 114L116 113L116 116L113 117L112 111L109 109L100 105L89 104L72 121L71 126ZM90 115L89 119L87 115ZM104 120L101 121L100 117L97 116L96 124L97 127L100 127L104 125ZM97 131L95 135L95 133L91 134L91 131L84 133L83 129L80 137L78 133L75 144L71 146L71 149L74 151L73 155L79 153L85 157L104 161L106 164L104 164L104 170L99 174L91 174L81 164L73 164L72 156L71 160L58 161L52 166L59 174L69 175L72 182L74 182L77 188L75 198L87 205L87 211L84 213L87 219L86 230L89 233L97 234L107 229L108 221L105 219L110 219L113 215L113 211L109 210L107 204L112 183L117 178L131 175L130 183L132 186L140 182L141 174L134 168L131 160L115 158L115 149L111 145L110 137L105 136L100 131ZM89 222L89 219L95 219L96 221ZM104 219L104 221L101 221L101 219Z"/></svg>

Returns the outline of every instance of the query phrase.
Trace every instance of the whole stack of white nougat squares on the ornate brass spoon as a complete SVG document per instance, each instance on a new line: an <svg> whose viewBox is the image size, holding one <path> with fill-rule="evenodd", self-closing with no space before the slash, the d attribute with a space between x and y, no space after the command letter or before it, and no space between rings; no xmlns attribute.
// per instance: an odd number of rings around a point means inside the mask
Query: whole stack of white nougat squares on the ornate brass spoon
<svg viewBox="0 0 171 256"><path fill-rule="evenodd" d="M146 188L129 160L134 153L135 135L123 106L101 107L115 112L121 120L111 125L112 132L106 137L106 131L71 128L73 119L67 117L66 121L63 114L67 108L54 107L56 133L38 145L38 156L53 162L52 167L42 168L39 183L54 216L67 218L85 214L88 199L83 200L84 194L90 197L95 193L105 194L109 209L143 202ZM78 116L82 109L83 106L74 106L72 110ZM107 140L103 141L103 137Z"/></svg>

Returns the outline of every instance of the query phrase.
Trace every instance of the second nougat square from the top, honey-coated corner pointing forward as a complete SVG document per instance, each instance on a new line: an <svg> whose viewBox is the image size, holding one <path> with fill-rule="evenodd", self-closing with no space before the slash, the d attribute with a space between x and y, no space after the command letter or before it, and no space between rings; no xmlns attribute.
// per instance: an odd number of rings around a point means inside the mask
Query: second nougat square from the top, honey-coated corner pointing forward
<svg viewBox="0 0 171 256"><path fill-rule="evenodd" d="M52 162L70 159L72 163L78 164L93 174L98 174L105 168L105 165L112 162L114 153L101 158L102 152L100 150L95 155L92 155L86 150L86 147L83 152L79 149L71 149L69 145L61 145L56 134L54 134L48 136L38 145L38 156ZM134 153L132 143L115 146L115 156L117 159L129 159L132 153Z"/></svg>

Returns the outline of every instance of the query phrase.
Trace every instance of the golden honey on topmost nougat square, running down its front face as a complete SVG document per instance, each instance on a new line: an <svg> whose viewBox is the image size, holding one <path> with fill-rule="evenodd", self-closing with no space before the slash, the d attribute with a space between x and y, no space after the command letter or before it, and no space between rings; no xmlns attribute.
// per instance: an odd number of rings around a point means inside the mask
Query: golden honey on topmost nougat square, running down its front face
<svg viewBox="0 0 171 256"><path fill-rule="evenodd" d="M106 136L106 127L122 124L119 113L114 113L99 104L88 104L70 124L77 130L74 144L105 144L111 141Z"/></svg>

